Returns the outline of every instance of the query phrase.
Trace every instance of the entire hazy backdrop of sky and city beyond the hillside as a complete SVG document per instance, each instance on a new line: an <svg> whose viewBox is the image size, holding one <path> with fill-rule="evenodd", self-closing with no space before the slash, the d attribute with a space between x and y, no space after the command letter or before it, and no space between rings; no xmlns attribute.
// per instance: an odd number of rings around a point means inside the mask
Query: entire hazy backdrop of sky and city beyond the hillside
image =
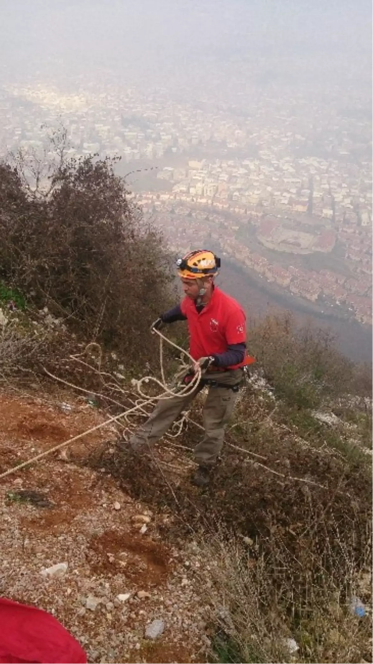
<svg viewBox="0 0 373 664"><path fill-rule="evenodd" d="M370 3L0 7L0 156L62 125L69 157L135 172L173 250L210 241L290 307L373 331Z"/></svg>

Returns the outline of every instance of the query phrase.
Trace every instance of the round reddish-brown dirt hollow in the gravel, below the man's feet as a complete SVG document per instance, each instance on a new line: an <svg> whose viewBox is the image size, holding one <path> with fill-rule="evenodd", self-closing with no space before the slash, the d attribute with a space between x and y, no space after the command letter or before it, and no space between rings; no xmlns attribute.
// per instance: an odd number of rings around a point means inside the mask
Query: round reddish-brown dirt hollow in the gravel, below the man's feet
<svg viewBox="0 0 373 664"><path fill-rule="evenodd" d="M159 586L170 569L170 553L164 544L129 533L107 531L92 537L91 562L95 574L125 574L141 588Z"/></svg>

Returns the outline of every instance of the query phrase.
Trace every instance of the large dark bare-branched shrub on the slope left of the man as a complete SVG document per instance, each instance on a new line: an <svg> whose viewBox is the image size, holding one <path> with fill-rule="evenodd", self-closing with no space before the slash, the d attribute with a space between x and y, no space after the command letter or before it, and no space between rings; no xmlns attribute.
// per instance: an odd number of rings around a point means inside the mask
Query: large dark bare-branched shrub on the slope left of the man
<svg viewBox="0 0 373 664"><path fill-rule="evenodd" d="M48 196L24 181L0 165L0 278L131 364L149 359L149 325L168 303L169 258L113 162L62 161Z"/></svg>

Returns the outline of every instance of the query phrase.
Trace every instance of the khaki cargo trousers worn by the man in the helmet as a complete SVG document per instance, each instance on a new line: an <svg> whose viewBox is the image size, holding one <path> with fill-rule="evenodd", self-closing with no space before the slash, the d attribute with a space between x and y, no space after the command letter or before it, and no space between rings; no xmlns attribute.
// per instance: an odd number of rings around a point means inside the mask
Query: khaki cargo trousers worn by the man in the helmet
<svg viewBox="0 0 373 664"><path fill-rule="evenodd" d="M204 373L207 380L217 380L227 385L236 385L242 381L242 369L225 372ZM185 397L160 399L149 420L130 438L129 444L134 450L141 450L164 436L171 424L198 394L201 387ZM208 394L203 407L204 438L194 449L194 458L199 465L209 466L216 462L224 442L224 428L232 415L238 392L224 387L208 387Z"/></svg>

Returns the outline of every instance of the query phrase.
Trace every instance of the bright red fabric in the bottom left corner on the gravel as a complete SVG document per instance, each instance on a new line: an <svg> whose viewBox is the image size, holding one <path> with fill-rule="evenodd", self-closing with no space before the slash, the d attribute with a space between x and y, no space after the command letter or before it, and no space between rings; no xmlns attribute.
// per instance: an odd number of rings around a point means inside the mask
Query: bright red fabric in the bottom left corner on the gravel
<svg viewBox="0 0 373 664"><path fill-rule="evenodd" d="M86 664L60 623L33 606L0 598L0 664Z"/></svg>

